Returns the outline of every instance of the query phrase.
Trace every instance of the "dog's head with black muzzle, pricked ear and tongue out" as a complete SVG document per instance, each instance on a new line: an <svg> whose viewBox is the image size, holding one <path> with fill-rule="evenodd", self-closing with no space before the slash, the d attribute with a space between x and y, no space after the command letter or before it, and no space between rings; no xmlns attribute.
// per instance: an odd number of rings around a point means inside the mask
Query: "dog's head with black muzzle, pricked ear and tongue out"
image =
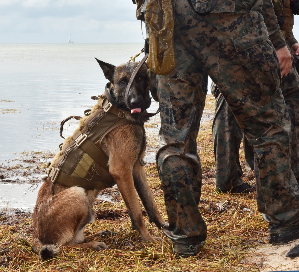
<svg viewBox="0 0 299 272"><path fill-rule="evenodd" d="M134 78L132 86L126 98L126 88L138 62L127 62L114 66L95 58L103 70L105 78L110 81L110 94L131 113L139 113L149 108L151 98L149 95L149 83L147 80L147 66L141 66Z"/></svg>

